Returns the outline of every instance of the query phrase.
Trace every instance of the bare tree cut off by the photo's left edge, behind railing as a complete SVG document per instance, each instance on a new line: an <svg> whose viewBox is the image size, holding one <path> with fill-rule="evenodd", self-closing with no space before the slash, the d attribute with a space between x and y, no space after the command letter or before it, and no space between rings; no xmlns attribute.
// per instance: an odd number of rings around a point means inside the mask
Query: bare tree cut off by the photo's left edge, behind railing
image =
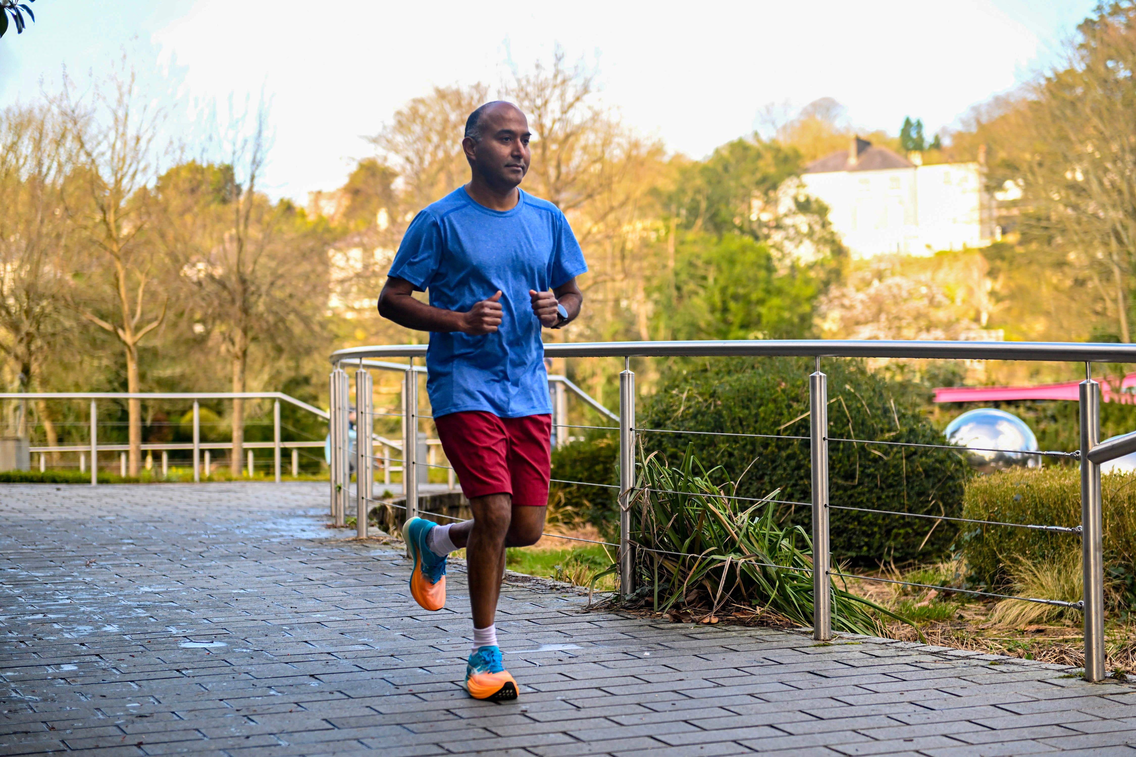
<svg viewBox="0 0 1136 757"><path fill-rule="evenodd" d="M12 107L0 112L0 352L18 390L39 382L42 365L70 330L65 308L73 235L64 204L70 142L50 109ZM42 412L49 443L56 429ZM26 434L19 407L15 432Z"/></svg>

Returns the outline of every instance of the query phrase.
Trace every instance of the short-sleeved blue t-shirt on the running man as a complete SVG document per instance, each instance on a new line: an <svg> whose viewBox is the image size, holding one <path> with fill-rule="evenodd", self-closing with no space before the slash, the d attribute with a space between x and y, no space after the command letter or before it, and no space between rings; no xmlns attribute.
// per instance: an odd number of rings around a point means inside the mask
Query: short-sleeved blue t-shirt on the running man
<svg viewBox="0 0 1136 757"><path fill-rule="evenodd" d="M502 293L495 333L431 333L426 390L434 417L469 410L499 418L551 413L541 321L528 291L554 289L586 270L565 215L525 192L516 208L499 211L459 187L418 213L390 276L428 292L429 304L445 310L465 312Z"/></svg>

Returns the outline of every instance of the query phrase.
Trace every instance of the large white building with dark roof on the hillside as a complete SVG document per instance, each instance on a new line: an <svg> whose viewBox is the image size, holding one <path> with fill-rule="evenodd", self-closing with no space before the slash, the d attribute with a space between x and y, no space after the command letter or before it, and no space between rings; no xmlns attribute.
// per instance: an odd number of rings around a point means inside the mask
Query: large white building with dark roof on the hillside
<svg viewBox="0 0 1136 757"><path fill-rule="evenodd" d="M813 161L801 179L828 205L855 258L932 255L997 238L982 162L921 166L912 158L853 137L849 150Z"/></svg>

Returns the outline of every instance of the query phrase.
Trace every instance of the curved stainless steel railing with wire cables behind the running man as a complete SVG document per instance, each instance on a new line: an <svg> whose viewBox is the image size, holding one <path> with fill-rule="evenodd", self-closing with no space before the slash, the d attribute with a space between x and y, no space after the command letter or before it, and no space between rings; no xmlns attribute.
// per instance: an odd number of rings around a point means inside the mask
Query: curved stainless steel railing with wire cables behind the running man
<svg viewBox="0 0 1136 757"><path fill-rule="evenodd" d="M406 372L403 385L403 469L407 516L418 514L418 476L414 473L424 463L415 460L416 445L410 443L411 434L417 434L418 418L428 418L418 411L418 380L423 371L415 367L415 359L426 355L426 345L375 345L340 350L332 354L332 512L336 520L342 521L348 501L348 482L350 464L346 459L346 407L350 387L344 369L358 367L356 373L357 396L360 422L366 422L370 412L365 397L370 396L370 376L368 368L402 370ZM629 594L634 589L634 545L630 539L630 503L635 494L635 441L638 434L670 432L669 429L642 429L635 424L635 375L630 370L630 358L715 358L715 356L810 356L816 359L816 371L809 376L810 389L810 443L812 466L812 497L808 503L793 503L812 508L813 565L824 565L825 570L813 569L813 638L828 640L832 638L832 596L830 578L858 578L886 583L903 583L920 587L924 584L907 581L895 581L867 575L851 575L840 572L832 565L829 554L828 514L830 510L853 510L888 516L922 518L921 514L901 513L884 508L845 507L830 505L828 502L828 445L835 444L885 444L871 439L844 439L828 436L827 420L827 376L821 372L824 358L891 358L891 359L938 359L938 360L1021 360L1046 362L1077 362L1085 364L1086 377L1080 384L1080 451L1068 452L1033 452L1031 454L1078 457L1081 464L1081 523L1077 527L1061 527L1035 523L1005 523L1000 521L977 521L971 519L951 519L934 516L936 520L955 520L969 523L983 523L1006 528L1042 529L1054 533L1064 533L1081 539L1084 557L1084 599L1078 603L1055 599L1009 597L993 592L952 589L962 594L985 597L1020 599L1063 607L1074 607L1084 612L1085 619L1085 678L1100 681L1104 678L1104 566L1102 554L1102 503L1100 465L1122 454L1136 451L1136 434L1130 437L1112 440L1097 447L1100 443L1100 384L1092 379L1092 363L1131 363L1136 362L1136 345L1129 344L1078 344L1078 343L1036 343L1036 342L899 342L899 340L829 340L829 339L759 339L759 340L705 340L705 342L604 342L604 343L567 343L545 344L545 355L549 358L623 358L624 371L619 375L619 503L620 524L618 547L620 590ZM408 363L377 362L389 359L409 359ZM566 379L567 380L567 379ZM594 403L593 401L593 404ZM556 407L556 404L554 404ZM613 415L610 411L605 411ZM554 417L556 417L554 412ZM556 421L554 421L556 422ZM560 422L563 422L562 411ZM740 435L763 436L763 435ZM897 446L928 447L938 445L919 445L909 443L886 443ZM946 445L944 445L946 446ZM1095 449L1094 449L1095 448ZM359 471L369 471L364 465L371 464L374 455L359 445L357 451ZM366 473L364 473L366 474ZM365 480L360 476L359 480ZM587 486L600 483L578 481ZM374 498L365 488L359 487L356 507L361 535L366 533L366 513ZM432 513L423 513L432 514ZM804 570L804 569L801 569ZM942 587L927 587L942 588Z"/></svg>

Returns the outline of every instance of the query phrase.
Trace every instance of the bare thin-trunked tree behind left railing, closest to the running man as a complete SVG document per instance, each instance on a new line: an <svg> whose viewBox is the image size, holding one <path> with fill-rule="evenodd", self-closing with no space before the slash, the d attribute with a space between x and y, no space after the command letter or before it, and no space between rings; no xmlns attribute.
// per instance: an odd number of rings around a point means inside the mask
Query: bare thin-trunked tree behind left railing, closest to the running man
<svg viewBox="0 0 1136 757"><path fill-rule="evenodd" d="M315 348L327 303L326 234L287 201L258 192L267 157L264 106L245 128L234 119L225 165L191 162L167 171L154 187L160 236L191 294L186 306L219 343L232 390L248 390L254 345ZM245 403L231 418L233 476L243 469Z"/></svg>

